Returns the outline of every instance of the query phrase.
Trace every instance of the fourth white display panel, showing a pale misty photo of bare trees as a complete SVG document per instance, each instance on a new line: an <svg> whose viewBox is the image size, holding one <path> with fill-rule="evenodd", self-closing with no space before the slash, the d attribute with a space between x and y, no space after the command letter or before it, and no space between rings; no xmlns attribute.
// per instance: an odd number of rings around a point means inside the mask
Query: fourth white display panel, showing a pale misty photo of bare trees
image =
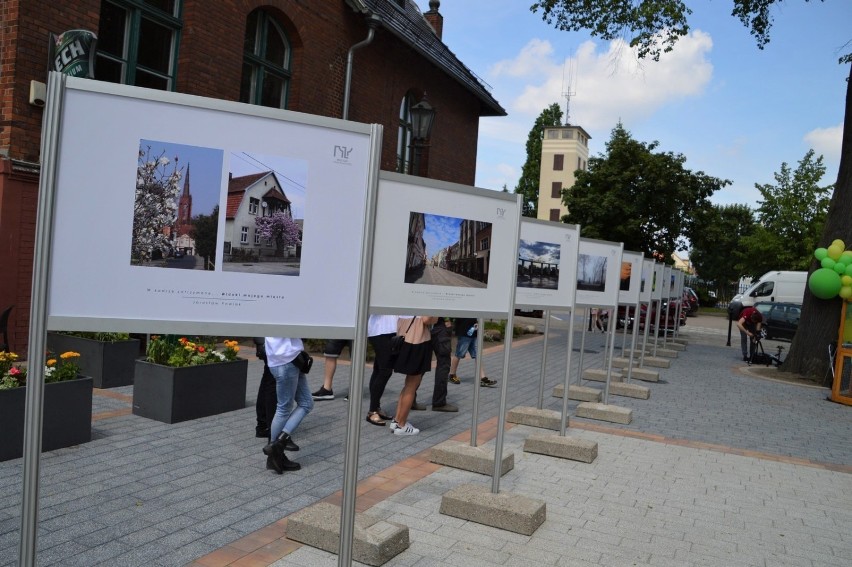
<svg viewBox="0 0 852 567"><path fill-rule="evenodd" d="M616 305L621 283L624 244L580 239L577 258L576 304L585 307Z"/></svg>

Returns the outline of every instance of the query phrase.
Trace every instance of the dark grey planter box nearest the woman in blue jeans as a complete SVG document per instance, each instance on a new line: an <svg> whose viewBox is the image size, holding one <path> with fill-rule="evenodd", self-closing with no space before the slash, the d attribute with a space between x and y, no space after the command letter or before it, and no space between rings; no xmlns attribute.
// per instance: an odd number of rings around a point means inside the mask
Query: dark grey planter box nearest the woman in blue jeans
<svg viewBox="0 0 852 567"><path fill-rule="evenodd" d="M178 423L246 407L248 360L174 368L136 361L133 413Z"/></svg>

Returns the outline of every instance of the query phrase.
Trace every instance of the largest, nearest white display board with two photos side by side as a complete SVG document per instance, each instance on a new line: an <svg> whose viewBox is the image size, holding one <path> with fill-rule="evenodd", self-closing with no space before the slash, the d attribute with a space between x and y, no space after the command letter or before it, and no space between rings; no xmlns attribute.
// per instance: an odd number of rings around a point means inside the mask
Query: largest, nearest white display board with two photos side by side
<svg viewBox="0 0 852 567"><path fill-rule="evenodd" d="M381 127L75 78L61 108L49 329L352 338Z"/></svg>

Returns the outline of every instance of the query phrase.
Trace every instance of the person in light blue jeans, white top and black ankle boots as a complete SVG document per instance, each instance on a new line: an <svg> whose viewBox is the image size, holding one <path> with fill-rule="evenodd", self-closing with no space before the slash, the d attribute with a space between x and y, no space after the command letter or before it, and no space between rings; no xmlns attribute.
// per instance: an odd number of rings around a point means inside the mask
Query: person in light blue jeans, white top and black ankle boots
<svg viewBox="0 0 852 567"><path fill-rule="evenodd" d="M266 468L282 474L302 468L299 463L288 459L284 451L299 450L291 435L314 408L314 400L308 387L308 377L294 364L304 348L302 339L266 337L264 344L266 363L275 377L278 403L270 427L274 441L263 448L263 453L267 455Z"/></svg>

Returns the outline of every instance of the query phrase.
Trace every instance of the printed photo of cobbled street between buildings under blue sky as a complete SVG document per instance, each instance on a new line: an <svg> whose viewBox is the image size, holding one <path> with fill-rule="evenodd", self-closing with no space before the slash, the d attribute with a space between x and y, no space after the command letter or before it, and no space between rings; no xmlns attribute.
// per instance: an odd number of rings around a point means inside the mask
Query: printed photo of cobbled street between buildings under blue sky
<svg viewBox="0 0 852 567"><path fill-rule="evenodd" d="M490 254L490 222L412 212L405 283L488 287Z"/></svg>

